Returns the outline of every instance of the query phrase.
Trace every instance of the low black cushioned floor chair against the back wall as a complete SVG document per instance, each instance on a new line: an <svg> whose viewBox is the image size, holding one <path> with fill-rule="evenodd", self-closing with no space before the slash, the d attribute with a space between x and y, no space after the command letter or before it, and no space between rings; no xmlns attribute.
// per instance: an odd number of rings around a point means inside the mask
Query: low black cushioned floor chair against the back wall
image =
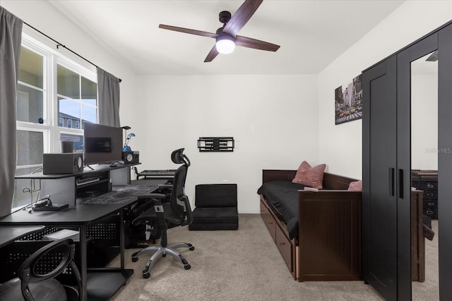
<svg viewBox="0 0 452 301"><path fill-rule="evenodd" d="M237 230L237 184L200 184L195 187L190 230Z"/></svg>

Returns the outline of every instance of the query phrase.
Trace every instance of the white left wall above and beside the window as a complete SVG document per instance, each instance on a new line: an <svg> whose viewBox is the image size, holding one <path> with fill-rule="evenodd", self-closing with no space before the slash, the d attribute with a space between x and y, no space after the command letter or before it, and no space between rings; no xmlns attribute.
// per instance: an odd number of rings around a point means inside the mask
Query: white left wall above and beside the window
<svg viewBox="0 0 452 301"><path fill-rule="evenodd" d="M114 56L112 52L102 47L99 42L78 29L71 20L61 16L61 13L58 13L47 1L0 0L0 5L22 19L25 23L44 32L49 37L52 37L52 39L64 44L69 49L88 59L88 61L95 63L107 72L112 73L117 78L121 78L121 106L119 113L121 125L138 126L138 121L129 118L133 109L127 106L129 99L136 98L136 75L131 72L125 63L121 63L120 59ZM23 25L23 32L56 49L56 43L40 35L25 24ZM58 51L73 59L73 61L80 63L82 66L95 71L93 65L71 54L70 51L62 47L59 47Z"/></svg>

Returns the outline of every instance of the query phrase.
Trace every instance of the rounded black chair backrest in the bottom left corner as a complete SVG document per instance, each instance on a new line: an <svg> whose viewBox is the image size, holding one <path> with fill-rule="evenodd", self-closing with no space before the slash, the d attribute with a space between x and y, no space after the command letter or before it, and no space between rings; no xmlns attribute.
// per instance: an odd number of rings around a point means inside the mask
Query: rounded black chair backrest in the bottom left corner
<svg viewBox="0 0 452 301"><path fill-rule="evenodd" d="M61 256L61 261L58 263L56 255L58 253ZM61 274L69 265L71 266L73 275L76 277L78 292L81 293L81 276L77 269L76 264L73 262L73 256L76 252L75 243L70 238L63 240L56 240L50 242L48 245L40 248L33 254L30 255L25 262L20 265L18 269L18 277L20 278L20 287L22 290L22 295L25 300L34 300L32 294L30 293L29 283L39 283L41 281L46 281L50 278L55 278ZM41 259L48 257L49 254L54 257L57 266L52 269L52 271L42 272L42 262Z"/></svg>

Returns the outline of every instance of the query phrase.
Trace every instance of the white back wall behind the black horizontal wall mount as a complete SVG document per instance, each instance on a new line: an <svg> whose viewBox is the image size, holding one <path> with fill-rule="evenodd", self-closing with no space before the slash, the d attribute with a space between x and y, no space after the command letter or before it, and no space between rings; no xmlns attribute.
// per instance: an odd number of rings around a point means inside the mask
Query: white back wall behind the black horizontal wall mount
<svg viewBox="0 0 452 301"><path fill-rule="evenodd" d="M238 209L258 213L262 169L318 164L316 75L151 76L139 80L143 126L132 149L143 168L174 168L172 150L191 159L186 192L203 183L237 183ZM232 136L234 152L206 153L198 137Z"/></svg>

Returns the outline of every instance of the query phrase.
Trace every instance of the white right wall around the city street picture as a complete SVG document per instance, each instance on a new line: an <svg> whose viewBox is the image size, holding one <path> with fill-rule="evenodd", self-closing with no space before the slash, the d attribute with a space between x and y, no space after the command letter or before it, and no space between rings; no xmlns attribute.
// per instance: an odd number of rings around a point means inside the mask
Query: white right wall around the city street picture
<svg viewBox="0 0 452 301"><path fill-rule="evenodd" d="M362 178L362 121L334 124L334 90L452 19L452 1L406 1L319 74L319 160Z"/></svg>

